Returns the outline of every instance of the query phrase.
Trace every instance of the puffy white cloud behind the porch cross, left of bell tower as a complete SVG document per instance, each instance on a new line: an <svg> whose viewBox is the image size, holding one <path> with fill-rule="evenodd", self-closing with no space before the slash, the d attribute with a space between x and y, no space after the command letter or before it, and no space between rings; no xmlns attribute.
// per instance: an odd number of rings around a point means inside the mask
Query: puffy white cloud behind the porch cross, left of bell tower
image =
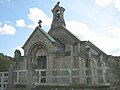
<svg viewBox="0 0 120 90"><path fill-rule="evenodd" d="M28 18L34 22L35 25L38 25L38 21L42 20L42 25L50 25L52 19L47 17L47 15L39 8L30 8ZM30 25L31 26L31 25Z"/></svg>

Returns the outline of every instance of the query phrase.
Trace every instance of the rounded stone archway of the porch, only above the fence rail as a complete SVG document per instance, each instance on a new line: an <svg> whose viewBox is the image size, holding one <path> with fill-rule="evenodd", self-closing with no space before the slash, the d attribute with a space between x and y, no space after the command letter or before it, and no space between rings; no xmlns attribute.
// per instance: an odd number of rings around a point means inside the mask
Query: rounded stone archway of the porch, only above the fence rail
<svg viewBox="0 0 120 90"><path fill-rule="evenodd" d="M47 63L46 45L44 43L33 44L29 50L28 68L43 69L42 64L47 65L46 63Z"/></svg>

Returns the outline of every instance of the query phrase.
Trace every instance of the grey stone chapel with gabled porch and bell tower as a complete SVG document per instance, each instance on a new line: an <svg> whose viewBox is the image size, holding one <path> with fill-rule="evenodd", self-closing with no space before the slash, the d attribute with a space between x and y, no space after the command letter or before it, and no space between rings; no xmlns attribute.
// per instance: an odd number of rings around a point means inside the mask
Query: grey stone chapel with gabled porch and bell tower
<svg viewBox="0 0 120 90"><path fill-rule="evenodd" d="M14 52L7 90L120 90L120 57L68 31L59 4L49 32L40 20L22 47L24 56Z"/></svg>

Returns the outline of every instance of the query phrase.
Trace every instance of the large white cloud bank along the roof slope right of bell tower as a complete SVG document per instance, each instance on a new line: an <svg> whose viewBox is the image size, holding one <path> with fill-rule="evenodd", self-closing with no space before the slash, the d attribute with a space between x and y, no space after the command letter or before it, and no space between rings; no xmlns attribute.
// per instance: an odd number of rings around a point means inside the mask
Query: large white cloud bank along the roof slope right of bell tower
<svg viewBox="0 0 120 90"><path fill-rule="evenodd" d="M110 33L114 38L108 35L99 34L92 31L86 24L77 21L67 22L67 28L80 40L89 40L103 52L111 55L120 55L115 48L120 49L120 29L113 28Z"/></svg>

